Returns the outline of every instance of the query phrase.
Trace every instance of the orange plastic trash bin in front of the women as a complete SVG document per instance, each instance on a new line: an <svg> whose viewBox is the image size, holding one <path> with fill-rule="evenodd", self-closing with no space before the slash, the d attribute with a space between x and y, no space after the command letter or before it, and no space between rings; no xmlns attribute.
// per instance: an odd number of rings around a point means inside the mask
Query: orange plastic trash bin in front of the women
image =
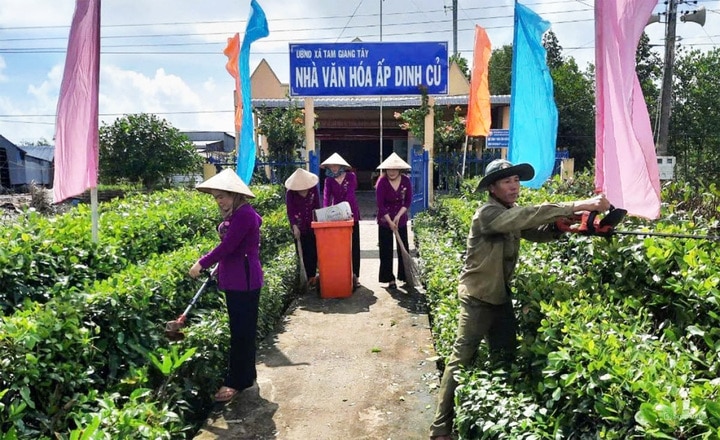
<svg viewBox="0 0 720 440"><path fill-rule="evenodd" d="M352 294L352 228L354 220L312 222L318 251L320 297Z"/></svg>

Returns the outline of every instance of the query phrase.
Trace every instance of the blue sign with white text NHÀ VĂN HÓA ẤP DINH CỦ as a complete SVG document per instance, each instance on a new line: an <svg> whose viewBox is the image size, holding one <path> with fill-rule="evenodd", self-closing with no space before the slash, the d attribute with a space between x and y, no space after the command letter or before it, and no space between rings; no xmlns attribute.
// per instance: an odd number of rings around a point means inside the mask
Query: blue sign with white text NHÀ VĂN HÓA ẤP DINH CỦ
<svg viewBox="0 0 720 440"><path fill-rule="evenodd" d="M448 44L290 44L291 96L448 93Z"/></svg>

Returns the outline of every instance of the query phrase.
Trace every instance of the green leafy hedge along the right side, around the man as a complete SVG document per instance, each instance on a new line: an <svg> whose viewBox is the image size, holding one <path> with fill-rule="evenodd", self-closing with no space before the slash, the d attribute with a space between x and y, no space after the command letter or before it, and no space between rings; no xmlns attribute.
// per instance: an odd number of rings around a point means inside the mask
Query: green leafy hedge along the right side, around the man
<svg viewBox="0 0 720 440"><path fill-rule="evenodd" d="M524 190L521 204L588 192L592 182L580 174L573 186ZM620 228L704 235L719 224L713 185L667 185L663 200L662 220L628 218ZM443 359L454 341L455 280L473 209L466 199L441 199L413 223ZM718 438L719 261L717 243L702 239L523 242L514 280L518 359L492 371L483 345L480 362L461 372L459 437Z"/></svg>

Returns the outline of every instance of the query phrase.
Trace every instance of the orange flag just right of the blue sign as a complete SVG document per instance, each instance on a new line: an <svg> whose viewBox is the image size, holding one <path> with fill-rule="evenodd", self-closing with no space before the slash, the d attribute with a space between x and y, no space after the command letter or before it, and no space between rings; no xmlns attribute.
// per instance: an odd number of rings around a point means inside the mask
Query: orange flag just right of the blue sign
<svg viewBox="0 0 720 440"><path fill-rule="evenodd" d="M491 55L490 39L485 29L475 25L475 49L473 70L470 78L470 98L465 134L487 136L490 134L490 87L488 63Z"/></svg>

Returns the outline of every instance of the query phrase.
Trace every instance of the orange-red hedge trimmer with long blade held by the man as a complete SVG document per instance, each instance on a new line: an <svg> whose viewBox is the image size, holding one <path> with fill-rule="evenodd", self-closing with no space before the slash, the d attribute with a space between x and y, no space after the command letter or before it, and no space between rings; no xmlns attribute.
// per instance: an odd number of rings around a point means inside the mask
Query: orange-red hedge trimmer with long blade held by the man
<svg viewBox="0 0 720 440"><path fill-rule="evenodd" d="M560 219L555 225L560 231L581 235L593 235L610 238L613 235L642 235L671 238L694 238L698 240L720 240L718 235L674 234L669 232L618 231L615 227L625 218L627 210L610 207L602 218L597 211L584 212L569 219Z"/></svg>

